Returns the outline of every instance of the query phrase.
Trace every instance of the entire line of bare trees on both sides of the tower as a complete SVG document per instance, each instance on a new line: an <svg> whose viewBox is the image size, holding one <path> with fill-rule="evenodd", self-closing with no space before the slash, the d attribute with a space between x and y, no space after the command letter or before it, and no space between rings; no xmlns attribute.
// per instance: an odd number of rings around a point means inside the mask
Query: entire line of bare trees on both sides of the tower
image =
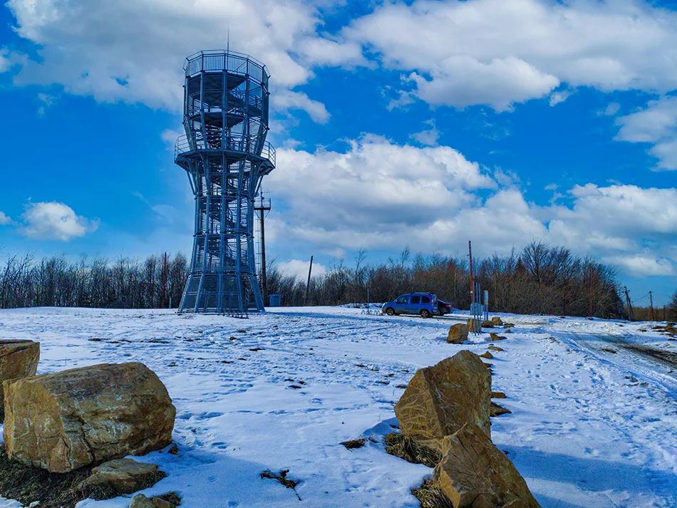
<svg viewBox="0 0 677 508"><path fill-rule="evenodd" d="M473 259L475 280L490 291L490 309L512 313L619 317L616 271L589 257L574 256L564 247L532 242L507 256ZM36 259L33 254L0 258L0 308L78 306L120 309L177 307L187 279L183 254L149 256L66 256ZM267 268L268 294L281 294L282 304L304 304L305 281L281 272L272 261ZM467 256L412 255L381 264L366 263L360 252L351 266L335 261L325 274L311 279L308 305L385 302L411 291L430 291L459 309L470 306ZM668 319L677 319L677 293L667 306Z"/></svg>

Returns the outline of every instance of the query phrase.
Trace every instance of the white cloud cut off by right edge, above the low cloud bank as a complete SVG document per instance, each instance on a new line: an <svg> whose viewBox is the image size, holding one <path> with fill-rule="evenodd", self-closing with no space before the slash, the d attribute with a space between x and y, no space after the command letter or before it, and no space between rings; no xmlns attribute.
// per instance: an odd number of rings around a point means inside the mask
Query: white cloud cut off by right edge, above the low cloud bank
<svg viewBox="0 0 677 508"><path fill-rule="evenodd" d="M616 118L616 140L651 143L658 170L677 170L677 97L652 100L644 110Z"/></svg>

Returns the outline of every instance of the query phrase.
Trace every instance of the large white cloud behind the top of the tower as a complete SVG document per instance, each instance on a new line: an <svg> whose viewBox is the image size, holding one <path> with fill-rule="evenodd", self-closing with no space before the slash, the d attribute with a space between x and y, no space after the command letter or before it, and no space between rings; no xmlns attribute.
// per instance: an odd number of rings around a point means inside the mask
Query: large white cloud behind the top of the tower
<svg viewBox="0 0 677 508"><path fill-rule="evenodd" d="M304 0L10 0L16 31L38 46L15 78L19 85L59 83L96 100L180 110L188 53L227 46L267 64L272 87L291 89L310 64L356 64L357 43L316 33L319 11ZM306 101L323 118L314 101ZM297 106L298 107L298 106ZM324 107L324 106L323 106ZM318 116L319 115L319 116Z"/></svg>

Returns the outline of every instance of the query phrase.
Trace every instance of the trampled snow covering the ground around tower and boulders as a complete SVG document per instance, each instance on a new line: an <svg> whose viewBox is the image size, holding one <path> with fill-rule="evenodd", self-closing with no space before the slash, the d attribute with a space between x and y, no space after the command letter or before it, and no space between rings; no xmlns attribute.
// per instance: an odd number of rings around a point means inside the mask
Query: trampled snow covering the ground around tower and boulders
<svg viewBox="0 0 677 508"><path fill-rule="evenodd" d="M416 369L461 349L486 351L488 334L445 343L465 318L343 307L248 319L17 309L0 311L0 338L40 341L38 373L141 361L160 375L177 408L180 453L140 459L169 474L147 495L175 490L187 508L418 507L410 489L431 470L387 455L383 437ZM492 383L512 414L492 418L492 440L542 507L677 507L677 369L669 363L677 342L646 324L503 318L517 326L496 343L505 351L491 361ZM360 436L376 442L339 445ZM262 480L267 469L289 470L296 492ZM0 499L0 508L19 506Z"/></svg>

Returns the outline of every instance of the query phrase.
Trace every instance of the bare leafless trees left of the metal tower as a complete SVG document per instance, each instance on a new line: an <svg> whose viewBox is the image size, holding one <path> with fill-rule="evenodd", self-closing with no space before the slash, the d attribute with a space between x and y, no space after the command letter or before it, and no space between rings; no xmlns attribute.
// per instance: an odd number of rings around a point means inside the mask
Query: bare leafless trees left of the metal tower
<svg viewBox="0 0 677 508"><path fill-rule="evenodd" d="M36 259L33 254L4 257L0 264L0 309L58 306L116 309L177 307L187 279L187 259L97 256Z"/></svg>

